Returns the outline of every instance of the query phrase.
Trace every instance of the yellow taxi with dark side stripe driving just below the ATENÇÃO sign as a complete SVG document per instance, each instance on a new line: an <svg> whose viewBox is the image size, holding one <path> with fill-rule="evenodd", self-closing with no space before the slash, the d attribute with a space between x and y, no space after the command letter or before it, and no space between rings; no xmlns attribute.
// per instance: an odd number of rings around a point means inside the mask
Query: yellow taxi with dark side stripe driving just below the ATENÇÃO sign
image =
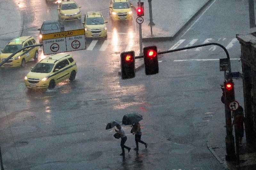
<svg viewBox="0 0 256 170"><path fill-rule="evenodd" d="M76 62L70 54L54 54L39 63L27 74L25 85L28 89L53 89L57 83L69 78L75 80Z"/></svg>

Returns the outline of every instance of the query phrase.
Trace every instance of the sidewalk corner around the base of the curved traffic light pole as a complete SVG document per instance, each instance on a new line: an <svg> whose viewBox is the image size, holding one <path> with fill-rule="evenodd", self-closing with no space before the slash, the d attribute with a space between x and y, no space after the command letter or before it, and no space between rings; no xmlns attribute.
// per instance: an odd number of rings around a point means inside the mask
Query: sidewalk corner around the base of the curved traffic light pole
<svg viewBox="0 0 256 170"><path fill-rule="evenodd" d="M233 135L235 132L233 128ZM223 126L216 127L213 133L207 138L207 147L216 157L216 159L226 168L235 170L236 162L227 162L225 159L226 155L226 128ZM236 146L236 145L235 145ZM256 150L246 145L245 132L242 144L240 145L240 169L243 170L254 170L256 169Z"/></svg>

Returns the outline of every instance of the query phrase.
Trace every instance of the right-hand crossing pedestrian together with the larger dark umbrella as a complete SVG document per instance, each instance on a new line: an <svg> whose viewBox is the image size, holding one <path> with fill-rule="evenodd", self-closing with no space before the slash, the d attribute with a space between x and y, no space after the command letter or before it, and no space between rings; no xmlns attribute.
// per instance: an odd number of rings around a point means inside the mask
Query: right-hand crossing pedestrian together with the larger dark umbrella
<svg viewBox="0 0 256 170"><path fill-rule="evenodd" d="M134 135L135 134L135 143L136 143L136 148L134 148L135 150L139 149L139 142L141 144L145 145L145 148L148 147L148 144L141 141L141 131L140 131L140 123L139 121L142 120L142 115L139 114L126 114L123 117L123 124L124 125L132 125L132 130L131 133Z"/></svg>

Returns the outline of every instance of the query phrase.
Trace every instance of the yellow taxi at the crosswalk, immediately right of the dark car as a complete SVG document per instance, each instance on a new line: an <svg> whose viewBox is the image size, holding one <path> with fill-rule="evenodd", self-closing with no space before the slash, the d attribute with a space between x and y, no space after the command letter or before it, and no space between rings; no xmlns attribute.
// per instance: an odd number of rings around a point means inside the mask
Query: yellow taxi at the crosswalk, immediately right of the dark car
<svg viewBox="0 0 256 170"><path fill-rule="evenodd" d="M108 21L104 20L101 12L87 12L83 21L85 37L104 37L107 39L106 23L108 23Z"/></svg>

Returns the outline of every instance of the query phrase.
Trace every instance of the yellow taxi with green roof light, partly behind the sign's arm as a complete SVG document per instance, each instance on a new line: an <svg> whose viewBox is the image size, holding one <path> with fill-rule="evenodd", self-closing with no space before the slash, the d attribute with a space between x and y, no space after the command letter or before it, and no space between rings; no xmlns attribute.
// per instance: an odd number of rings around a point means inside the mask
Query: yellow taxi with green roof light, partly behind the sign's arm
<svg viewBox="0 0 256 170"><path fill-rule="evenodd" d="M4 61L7 57L12 55L12 53L18 51L19 49L36 44L34 37L31 36L23 36L19 38L15 38L8 43L7 46L2 50L0 54L0 61ZM10 60L4 63L1 67L25 67L26 63L34 58L34 60L38 59L38 49L39 47L30 47L24 49L14 55Z"/></svg>

